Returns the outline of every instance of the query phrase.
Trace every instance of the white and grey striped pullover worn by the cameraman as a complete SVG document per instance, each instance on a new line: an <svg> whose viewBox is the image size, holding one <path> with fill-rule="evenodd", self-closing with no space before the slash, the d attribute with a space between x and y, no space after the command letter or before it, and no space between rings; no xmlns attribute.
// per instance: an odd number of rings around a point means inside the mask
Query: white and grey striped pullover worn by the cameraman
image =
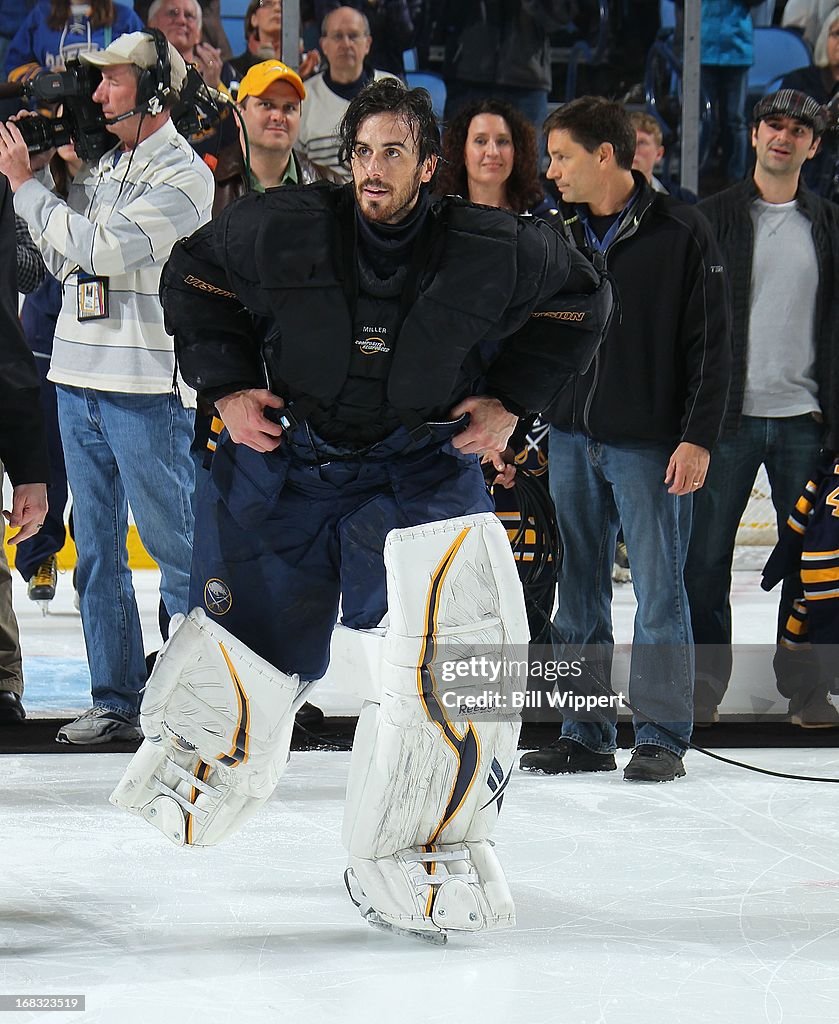
<svg viewBox="0 0 839 1024"><path fill-rule="evenodd" d="M40 181L14 206L47 268L62 282L49 379L130 394L172 389L174 349L158 286L178 239L210 219L213 176L171 121L133 151L83 167L67 203ZM109 315L79 322L78 273L109 279Z"/></svg>

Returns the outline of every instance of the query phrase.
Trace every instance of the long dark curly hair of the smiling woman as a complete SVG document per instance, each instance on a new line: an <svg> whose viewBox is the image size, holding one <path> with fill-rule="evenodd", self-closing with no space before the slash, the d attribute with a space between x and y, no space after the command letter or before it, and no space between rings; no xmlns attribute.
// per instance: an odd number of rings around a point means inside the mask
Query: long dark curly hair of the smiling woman
<svg viewBox="0 0 839 1024"><path fill-rule="evenodd" d="M507 200L516 213L537 206L542 198L537 164L536 130L530 121L509 103L500 99L475 99L462 106L446 128L443 140L443 168L436 190L447 196L469 198L466 161L463 151L473 118L494 114L510 126L515 150L510 176L505 182Z"/></svg>

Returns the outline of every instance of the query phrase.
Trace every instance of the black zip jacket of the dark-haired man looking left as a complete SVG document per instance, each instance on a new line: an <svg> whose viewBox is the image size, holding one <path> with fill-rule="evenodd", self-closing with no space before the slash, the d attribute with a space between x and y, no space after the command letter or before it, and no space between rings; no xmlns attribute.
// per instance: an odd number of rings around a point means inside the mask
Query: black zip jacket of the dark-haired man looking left
<svg viewBox="0 0 839 1024"><path fill-rule="evenodd" d="M722 260L708 222L687 206L640 191L605 255L620 303L591 371L551 412L554 426L603 441L689 441L719 434L730 346ZM584 245L574 207L558 220Z"/></svg>

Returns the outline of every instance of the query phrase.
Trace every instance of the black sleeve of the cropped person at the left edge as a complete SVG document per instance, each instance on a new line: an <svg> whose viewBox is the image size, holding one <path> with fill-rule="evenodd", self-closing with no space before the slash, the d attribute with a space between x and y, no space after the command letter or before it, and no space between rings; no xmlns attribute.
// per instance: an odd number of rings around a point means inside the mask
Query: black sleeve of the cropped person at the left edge
<svg viewBox="0 0 839 1024"><path fill-rule="evenodd" d="M49 480L38 370L17 317L14 211L6 178L0 174L0 462L13 484Z"/></svg>

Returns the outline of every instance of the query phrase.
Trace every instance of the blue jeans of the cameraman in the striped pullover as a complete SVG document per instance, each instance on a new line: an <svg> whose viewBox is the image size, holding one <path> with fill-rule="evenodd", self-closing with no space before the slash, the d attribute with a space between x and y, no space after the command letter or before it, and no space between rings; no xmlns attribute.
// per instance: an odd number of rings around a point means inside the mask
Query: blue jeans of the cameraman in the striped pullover
<svg viewBox="0 0 839 1024"><path fill-rule="evenodd" d="M192 413L174 394L66 385L56 390L77 513L76 589L93 703L133 716L145 662L125 546L128 505L160 566L166 610L185 614L193 544Z"/></svg>

